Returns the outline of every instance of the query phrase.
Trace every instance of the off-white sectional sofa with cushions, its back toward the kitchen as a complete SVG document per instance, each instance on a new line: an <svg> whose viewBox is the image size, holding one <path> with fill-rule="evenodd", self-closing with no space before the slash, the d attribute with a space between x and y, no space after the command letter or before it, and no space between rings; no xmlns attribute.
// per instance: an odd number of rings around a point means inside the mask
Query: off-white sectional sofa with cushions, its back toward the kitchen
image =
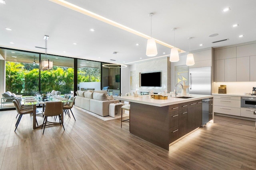
<svg viewBox="0 0 256 170"><path fill-rule="evenodd" d="M108 106L114 103L113 97L107 96L106 90L88 90L76 92L75 106L81 107L100 116L108 116Z"/></svg>

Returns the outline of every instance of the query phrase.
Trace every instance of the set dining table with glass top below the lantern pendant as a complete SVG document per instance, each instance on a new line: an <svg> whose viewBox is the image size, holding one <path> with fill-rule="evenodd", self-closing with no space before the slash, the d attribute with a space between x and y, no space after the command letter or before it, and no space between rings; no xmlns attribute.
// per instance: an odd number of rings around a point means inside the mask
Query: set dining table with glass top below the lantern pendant
<svg viewBox="0 0 256 170"><path fill-rule="evenodd" d="M68 100L68 99L63 98L61 96L50 96L48 98L28 96L28 97L24 97L23 100L24 100L24 105L25 106L33 106L33 129L36 129L38 127L42 127L42 125L37 125L36 126L36 105L41 105L42 104L43 111L44 111L44 106L45 106L46 102L62 102L62 105L64 103L74 102L72 100ZM61 120L63 122L63 112L61 114Z"/></svg>

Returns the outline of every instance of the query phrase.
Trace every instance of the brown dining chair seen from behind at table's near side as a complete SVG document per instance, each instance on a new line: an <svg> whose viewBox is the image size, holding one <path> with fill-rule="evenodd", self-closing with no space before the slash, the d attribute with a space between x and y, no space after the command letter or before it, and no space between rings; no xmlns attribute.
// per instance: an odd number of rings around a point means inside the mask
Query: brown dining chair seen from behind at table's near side
<svg viewBox="0 0 256 170"><path fill-rule="evenodd" d="M62 119L61 119L61 114L62 113L63 113L62 102L47 102L45 104L45 110L43 112L44 121L43 121L43 124L42 124L42 128L44 126L44 129L45 129L46 123L49 123L49 125L57 124L56 122L48 121L47 118L49 116L58 116L59 119L60 119L60 125L62 124L63 129L65 130ZM44 135L44 131L43 131L43 135Z"/></svg>

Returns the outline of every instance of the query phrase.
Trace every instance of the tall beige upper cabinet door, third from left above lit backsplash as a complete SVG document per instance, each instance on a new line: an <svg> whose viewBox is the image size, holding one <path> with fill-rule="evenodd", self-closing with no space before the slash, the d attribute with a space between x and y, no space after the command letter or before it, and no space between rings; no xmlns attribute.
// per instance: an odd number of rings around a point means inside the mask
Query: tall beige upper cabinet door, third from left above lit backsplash
<svg viewBox="0 0 256 170"><path fill-rule="evenodd" d="M250 57L236 58L236 81L250 81Z"/></svg>

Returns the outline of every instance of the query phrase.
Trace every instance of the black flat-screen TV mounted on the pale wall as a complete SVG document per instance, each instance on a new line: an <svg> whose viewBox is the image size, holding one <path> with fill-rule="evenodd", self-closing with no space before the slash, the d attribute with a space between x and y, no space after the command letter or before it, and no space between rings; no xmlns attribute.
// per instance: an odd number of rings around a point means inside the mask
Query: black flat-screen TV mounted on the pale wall
<svg viewBox="0 0 256 170"><path fill-rule="evenodd" d="M161 72L140 73L140 86L162 87Z"/></svg>

